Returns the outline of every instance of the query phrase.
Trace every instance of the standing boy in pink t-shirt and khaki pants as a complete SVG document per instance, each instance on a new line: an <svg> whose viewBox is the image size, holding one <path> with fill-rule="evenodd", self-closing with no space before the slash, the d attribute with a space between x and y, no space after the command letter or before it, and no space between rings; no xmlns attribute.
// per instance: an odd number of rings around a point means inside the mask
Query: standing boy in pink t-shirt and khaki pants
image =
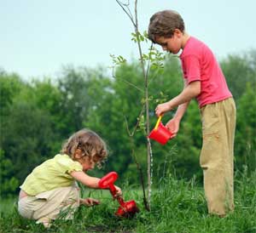
<svg viewBox="0 0 256 233"><path fill-rule="evenodd" d="M154 14L148 26L148 38L163 50L180 54L183 91L166 103L157 105L159 117L177 107L166 124L175 137L189 101L196 98L201 111L203 143L200 164L208 212L224 216L234 209L233 147L236 105L217 60L210 48L185 31L180 14L164 10Z"/></svg>

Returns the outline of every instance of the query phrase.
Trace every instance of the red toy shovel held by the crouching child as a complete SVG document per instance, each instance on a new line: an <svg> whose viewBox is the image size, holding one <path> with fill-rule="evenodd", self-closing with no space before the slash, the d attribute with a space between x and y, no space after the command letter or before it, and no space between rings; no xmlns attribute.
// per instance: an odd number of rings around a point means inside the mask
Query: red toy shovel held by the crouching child
<svg viewBox="0 0 256 233"><path fill-rule="evenodd" d="M118 179L118 174L115 172L108 173L107 175L103 176L102 179L99 181L99 188L101 189L109 189L110 193L114 197L117 193L116 188L114 187L114 181ZM116 197L117 201L119 202L119 208L116 211L115 215L119 217L133 217L135 213L139 212L139 209L136 205L136 202L131 200L125 202L121 196Z"/></svg>

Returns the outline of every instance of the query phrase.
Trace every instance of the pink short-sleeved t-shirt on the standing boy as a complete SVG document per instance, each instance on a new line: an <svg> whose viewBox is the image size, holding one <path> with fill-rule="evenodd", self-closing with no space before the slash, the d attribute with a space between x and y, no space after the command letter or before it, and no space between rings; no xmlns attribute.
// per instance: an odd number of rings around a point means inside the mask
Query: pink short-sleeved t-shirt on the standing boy
<svg viewBox="0 0 256 233"><path fill-rule="evenodd" d="M201 81L201 94L196 97L200 107L232 97L218 61L206 44L189 37L180 59L188 83Z"/></svg>

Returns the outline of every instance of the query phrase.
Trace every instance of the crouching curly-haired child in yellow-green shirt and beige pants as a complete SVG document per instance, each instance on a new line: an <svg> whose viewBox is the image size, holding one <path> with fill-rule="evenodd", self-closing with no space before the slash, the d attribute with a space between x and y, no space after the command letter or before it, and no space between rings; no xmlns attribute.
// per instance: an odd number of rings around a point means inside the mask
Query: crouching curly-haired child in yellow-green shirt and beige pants
<svg viewBox="0 0 256 233"><path fill-rule="evenodd" d="M93 206L99 201L93 198L80 199L76 180L97 189L100 179L86 171L101 163L108 156L105 142L89 129L73 134L62 146L61 154L34 168L20 186L18 210L26 219L49 227L50 221L64 212L64 219L73 219L80 204ZM121 195L119 187L117 195Z"/></svg>

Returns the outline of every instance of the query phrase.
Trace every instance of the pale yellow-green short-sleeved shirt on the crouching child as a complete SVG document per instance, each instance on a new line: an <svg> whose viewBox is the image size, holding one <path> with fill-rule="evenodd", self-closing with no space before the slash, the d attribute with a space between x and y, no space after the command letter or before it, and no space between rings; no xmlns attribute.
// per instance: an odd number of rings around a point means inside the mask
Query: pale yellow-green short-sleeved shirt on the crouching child
<svg viewBox="0 0 256 233"><path fill-rule="evenodd" d="M70 173L73 171L83 171L82 165L67 155L56 155L34 168L20 189L36 196L44 191L72 186L75 180Z"/></svg>

